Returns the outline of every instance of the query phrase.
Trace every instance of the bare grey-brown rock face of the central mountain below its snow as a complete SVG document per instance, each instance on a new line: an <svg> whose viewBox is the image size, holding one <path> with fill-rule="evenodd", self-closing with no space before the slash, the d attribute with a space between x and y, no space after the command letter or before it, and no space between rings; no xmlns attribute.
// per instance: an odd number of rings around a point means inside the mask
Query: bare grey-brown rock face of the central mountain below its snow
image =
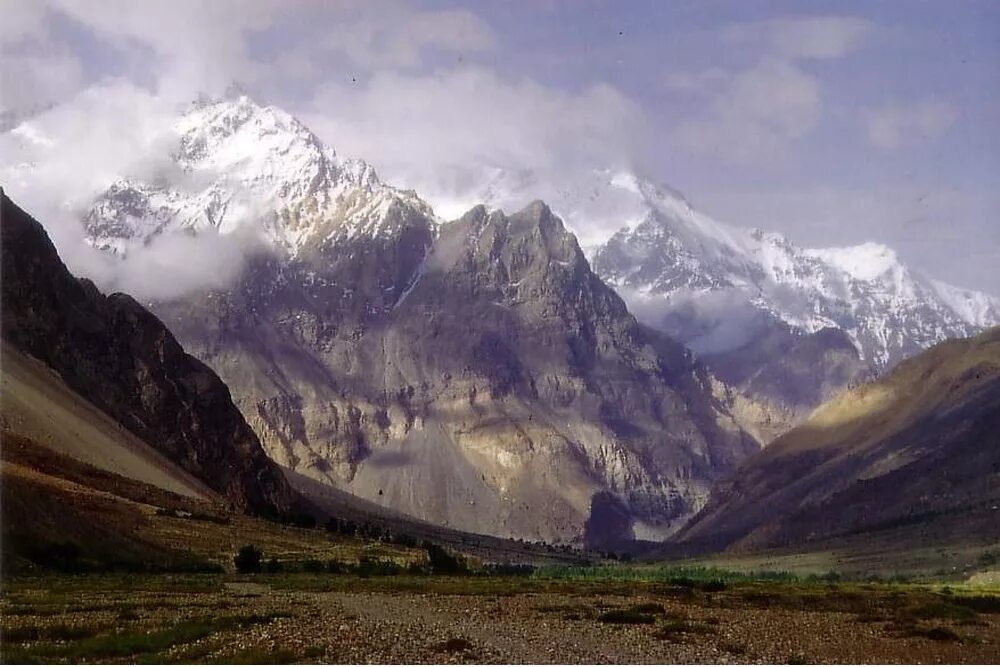
<svg viewBox="0 0 1000 667"><path fill-rule="evenodd" d="M374 255L328 252L333 273L261 259L233 290L156 305L298 472L437 523L578 541L597 494L626 508L597 534L669 533L757 449L541 203L444 225L393 290L353 279Z"/></svg>

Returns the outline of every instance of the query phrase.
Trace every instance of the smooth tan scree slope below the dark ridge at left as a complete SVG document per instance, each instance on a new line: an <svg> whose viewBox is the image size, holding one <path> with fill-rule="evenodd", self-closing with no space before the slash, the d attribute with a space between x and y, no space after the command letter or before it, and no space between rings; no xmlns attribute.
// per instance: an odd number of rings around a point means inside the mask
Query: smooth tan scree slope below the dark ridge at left
<svg viewBox="0 0 1000 667"><path fill-rule="evenodd" d="M2 347L0 376L4 432L166 491L214 497L204 484L67 387L45 364L7 343Z"/></svg>

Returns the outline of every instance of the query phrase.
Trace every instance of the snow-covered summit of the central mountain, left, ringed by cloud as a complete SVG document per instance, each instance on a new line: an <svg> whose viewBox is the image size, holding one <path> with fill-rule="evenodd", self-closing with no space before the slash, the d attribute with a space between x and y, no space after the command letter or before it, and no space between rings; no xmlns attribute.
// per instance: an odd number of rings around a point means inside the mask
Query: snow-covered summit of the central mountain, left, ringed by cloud
<svg viewBox="0 0 1000 667"><path fill-rule="evenodd" d="M152 175L113 183L86 215L91 243L127 253L184 231L250 228L290 256L306 247L391 235L395 206L433 218L414 193L342 159L290 114L245 94L191 105L166 132L169 155Z"/></svg>

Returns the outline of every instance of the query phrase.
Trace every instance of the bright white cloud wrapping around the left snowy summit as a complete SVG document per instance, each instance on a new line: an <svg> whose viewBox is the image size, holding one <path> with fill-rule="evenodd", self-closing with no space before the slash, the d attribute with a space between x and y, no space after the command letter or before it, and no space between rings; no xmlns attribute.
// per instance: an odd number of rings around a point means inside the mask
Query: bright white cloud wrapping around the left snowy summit
<svg viewBox="0 0 1000 667"><path fill-rule="evenodd" d="M153 179L175 168L175 106L127 82L93 86L0 134L0 182L44 226L76 275L105 291L169 299L221 287L242 268L251 236L168 235L125 259L90 247L81 219L93 198L121 176Z"/></svg>

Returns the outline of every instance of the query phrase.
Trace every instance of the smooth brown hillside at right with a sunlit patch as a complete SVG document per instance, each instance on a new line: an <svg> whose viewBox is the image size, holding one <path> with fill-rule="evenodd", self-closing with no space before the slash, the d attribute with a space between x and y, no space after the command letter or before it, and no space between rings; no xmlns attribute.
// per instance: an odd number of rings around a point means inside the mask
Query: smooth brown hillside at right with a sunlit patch
<svg viewBox="0 0 1000 667"><path fill-rule="evenodd" d="M844 392L720 483L676 542L802 546L902 530L1000 537L1000 327Z"/></svg>

